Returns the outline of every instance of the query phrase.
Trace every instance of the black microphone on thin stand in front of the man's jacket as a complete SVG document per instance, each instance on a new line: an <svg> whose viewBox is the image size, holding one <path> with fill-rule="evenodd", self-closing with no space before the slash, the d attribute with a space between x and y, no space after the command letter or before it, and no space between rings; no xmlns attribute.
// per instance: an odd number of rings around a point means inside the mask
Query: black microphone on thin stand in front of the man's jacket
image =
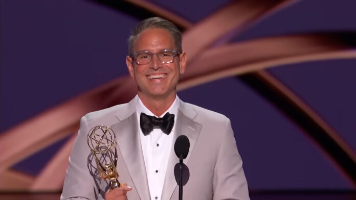
<svg viewBox="0 0 356 200"><path fill-rule="evenodd" d="M188 156L189 146L189 139L185 135L179 136L174 143L174 152L179 158L179 200L182 200L183 196L183 159Z"/></svg>

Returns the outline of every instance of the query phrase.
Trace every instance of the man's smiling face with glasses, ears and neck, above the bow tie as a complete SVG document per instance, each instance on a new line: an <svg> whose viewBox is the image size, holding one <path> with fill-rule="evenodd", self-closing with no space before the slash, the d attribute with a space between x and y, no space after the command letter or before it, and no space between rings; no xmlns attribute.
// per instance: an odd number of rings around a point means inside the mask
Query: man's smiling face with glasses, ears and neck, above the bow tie
<svg viewBox="0 0 356 200"><path fill-rule="evenodd" d="M187 57L166 29L141 29L136 31L140 32L136 37L129 38L136 41L129 41L133 46L126 65L136 80L140 100L153 114L160 116L176 98L175 88L179 74L185 71Z"/></svg>

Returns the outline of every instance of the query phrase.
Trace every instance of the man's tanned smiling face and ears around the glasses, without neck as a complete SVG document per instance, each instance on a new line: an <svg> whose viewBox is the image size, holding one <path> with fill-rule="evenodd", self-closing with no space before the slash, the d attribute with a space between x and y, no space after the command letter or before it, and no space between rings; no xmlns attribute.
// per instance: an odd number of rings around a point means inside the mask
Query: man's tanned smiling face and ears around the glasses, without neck
<svg viewBox="0 0 356 200"><path fill-rule="evenodd" d="M158 28L141 32L133 45L133 52L158 53L163 49L176 49L176 46L172 35ZM134 59L127 56L126 64L130 76L135 78L138 84L139 95L175 98L179 74L184 73L186 67L186 54L176 56L172 63L161 63L157 55L153 55L151 62L145 65L138 65Z"/></svg>

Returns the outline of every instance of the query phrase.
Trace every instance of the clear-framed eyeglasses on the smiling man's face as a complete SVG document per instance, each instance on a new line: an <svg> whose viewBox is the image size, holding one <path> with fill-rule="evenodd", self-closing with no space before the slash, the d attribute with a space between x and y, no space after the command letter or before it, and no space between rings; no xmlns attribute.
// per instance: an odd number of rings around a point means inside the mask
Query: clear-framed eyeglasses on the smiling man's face
<svg viewBox="0 0 356 200"><path fill-rule="evenodd" d="M161 63L171 63L174 61L174 57L180 54L176 50L163 49L158 53L151 53L150 51L136 52L131 58L135 59L138 65L146 65L151 62L153 55L157 55Z"/></svg>

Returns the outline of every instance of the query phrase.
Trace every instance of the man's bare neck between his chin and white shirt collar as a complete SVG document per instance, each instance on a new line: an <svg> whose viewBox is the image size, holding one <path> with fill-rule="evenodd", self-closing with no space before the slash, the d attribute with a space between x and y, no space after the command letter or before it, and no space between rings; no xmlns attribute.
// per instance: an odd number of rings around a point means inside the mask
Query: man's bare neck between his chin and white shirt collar
<svg viewBox="0 0 356 200"><path fill-rule="evenodd" d="M139 92L139 97L148 110L156 116L161 116L173 104L176 93L166 97L150 97Z"/></svg>

